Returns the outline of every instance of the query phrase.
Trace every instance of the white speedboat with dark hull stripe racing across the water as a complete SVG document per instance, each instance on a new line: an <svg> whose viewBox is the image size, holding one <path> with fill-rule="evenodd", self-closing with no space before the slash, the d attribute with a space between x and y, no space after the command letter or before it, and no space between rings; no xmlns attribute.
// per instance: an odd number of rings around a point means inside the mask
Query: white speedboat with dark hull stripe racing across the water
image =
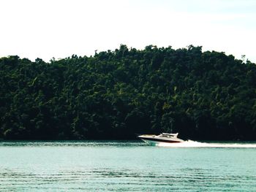
<svg viewBox="0 0 256 192"><path fill-rule="evenodd" d="M159 135L143 134L138 136L138 138L142 139L144 142L148 143L149 145L158 145L161 142L165 142L165 143L184 142L184 140L178 138L178 133L177 134L162 133Z"/></svg>

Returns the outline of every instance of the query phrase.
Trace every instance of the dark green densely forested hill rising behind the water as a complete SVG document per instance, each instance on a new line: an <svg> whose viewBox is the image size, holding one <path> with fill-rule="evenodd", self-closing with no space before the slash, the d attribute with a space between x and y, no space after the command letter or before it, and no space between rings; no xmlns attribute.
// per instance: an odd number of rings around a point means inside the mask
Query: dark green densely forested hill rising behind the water
<svg viewBox="0 0 256 192"><path fill-rule="evenodd" d="M1 139L256 139L256 65L201 47L0 58Z"/></svg>

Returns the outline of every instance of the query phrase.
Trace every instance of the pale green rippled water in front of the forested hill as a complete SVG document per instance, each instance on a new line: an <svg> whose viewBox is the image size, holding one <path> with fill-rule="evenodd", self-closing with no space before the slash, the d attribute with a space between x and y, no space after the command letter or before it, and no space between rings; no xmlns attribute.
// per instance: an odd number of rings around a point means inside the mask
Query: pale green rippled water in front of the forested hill
<svg viewBox="0 0 256 192"><path fill-rule="evenodd" d="M256 144L0 142L0 191L256 191Z"/></svg>

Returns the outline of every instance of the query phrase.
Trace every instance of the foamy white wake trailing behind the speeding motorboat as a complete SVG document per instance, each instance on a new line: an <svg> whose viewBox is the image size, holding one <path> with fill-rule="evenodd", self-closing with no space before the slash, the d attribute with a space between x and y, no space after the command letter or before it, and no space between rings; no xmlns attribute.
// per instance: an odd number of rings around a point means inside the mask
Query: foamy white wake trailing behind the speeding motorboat
<svg viewBox="0 0 256 192"><path fill-rule="evenodd" d="M233 143L226 143L226 142L195 142L192 140L188 140L185 142L179 142L179 143L164 143L160 142L157 144L159 147L234 147L234 148L256 148L256 142L255 143L248 143L248 142L233 142Z"/></svg>

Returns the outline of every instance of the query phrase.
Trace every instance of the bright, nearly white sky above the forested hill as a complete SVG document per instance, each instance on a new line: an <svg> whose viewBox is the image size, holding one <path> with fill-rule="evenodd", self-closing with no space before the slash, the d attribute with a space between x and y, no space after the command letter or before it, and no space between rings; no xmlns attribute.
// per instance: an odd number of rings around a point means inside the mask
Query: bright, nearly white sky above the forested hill
<svg viewBox="0 0 256 192"><path fill-rule="evenodd" d="M256 0L1 0L0 57L67 58L121 44L225 52L256 63Z"/></svg>

